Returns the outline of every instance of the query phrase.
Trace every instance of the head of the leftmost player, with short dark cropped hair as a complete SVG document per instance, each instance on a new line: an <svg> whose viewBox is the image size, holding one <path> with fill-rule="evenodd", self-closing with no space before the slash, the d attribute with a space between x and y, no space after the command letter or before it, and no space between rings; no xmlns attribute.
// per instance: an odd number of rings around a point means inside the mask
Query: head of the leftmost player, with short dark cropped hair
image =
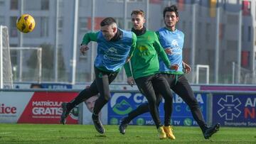
<svg viewBox="0 0 256 144"><path fill-rule="evenodd" d="M117 22L114 18L107 17L100 23L100 30L106 40L111 40L117 33Z"/></svg>

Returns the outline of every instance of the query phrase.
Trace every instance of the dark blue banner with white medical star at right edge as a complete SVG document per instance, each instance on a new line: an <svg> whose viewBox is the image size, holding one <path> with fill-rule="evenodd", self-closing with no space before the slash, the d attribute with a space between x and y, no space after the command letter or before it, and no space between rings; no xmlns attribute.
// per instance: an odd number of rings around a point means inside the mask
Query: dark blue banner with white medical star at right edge
<svg viewBox="0 0 256 144"><path fill-rule="evenodd" d="M256 126L256 96L213 94L213 123L222 126Z"/></svg>

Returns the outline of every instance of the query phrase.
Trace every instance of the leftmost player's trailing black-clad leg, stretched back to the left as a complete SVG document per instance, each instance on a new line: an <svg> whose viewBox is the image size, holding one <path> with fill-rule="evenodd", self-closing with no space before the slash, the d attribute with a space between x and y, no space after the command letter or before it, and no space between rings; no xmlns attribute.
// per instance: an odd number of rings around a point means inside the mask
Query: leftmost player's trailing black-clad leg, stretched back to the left
<svg viewBox="0 0 256 144"><path fill-rule="evenodd" d="M63 104L61 104L63 112L60 116L60 123L65 124L66 118L68 117L70 111L75 106L80 104L82 101L85 101L85 99L89 99L91 96L95 96L96 94L98 94L97 85L96 85L96 82L93 81L92 84L90 85L90 87L83 89L78 94L78 96L75 97L75 99L73 99L72 101L70 101L68 103L63 102Z"/></svg>

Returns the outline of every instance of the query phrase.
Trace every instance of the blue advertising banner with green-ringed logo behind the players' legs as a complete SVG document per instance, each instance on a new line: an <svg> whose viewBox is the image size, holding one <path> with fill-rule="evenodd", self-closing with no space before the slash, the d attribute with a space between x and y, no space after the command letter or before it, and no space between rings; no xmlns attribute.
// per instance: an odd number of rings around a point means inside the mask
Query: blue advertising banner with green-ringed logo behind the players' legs
<svg viewBox="0 0 256 144"><path fill-rule="evenodd" d="M206 119L206 94L195 94L198 104ZM112 93L110 102L108 103L108 124L117 125L119 121L127 116L129 112L136 109L137 106L146 102L146 97L141 93ZM162 123L164 123L164 101L161 101L159 106L159 116ZM149 112L144 113L134 118L132 125L154 125ZM179 97L174 94L173 113L171 115L171 125L174 126L198 126L193 119L188 105Z"/></svg>

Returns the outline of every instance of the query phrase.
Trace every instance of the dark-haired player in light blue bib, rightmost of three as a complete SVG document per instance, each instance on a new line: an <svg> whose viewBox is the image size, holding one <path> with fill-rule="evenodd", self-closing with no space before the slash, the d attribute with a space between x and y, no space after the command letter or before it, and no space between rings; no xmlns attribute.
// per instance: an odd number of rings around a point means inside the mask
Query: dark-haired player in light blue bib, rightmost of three
<svg viewBox="0 0 256 144"><path fill-rule="evenodd" d="M191 86L188 84L188 80L183 74L183 68L185 68L186 72L191 71L191 67L187 65L182 60L182 50L184 43L184 34L182 31L176 29L176 23L178 22L178 9L176 6L168 6L164 9L164 23L166 27L159 29L157 31L157 35L159 37L159 41L168 53L169 60L172 64L177 64L178 70L169 70L166 65L164 65L163 60L159 60L160 69L162 75L167 79L169 86L171 89L181 96L183 101L188 104L191 109L191 113L193 118L197 121L198 125L203 132L204 138L208 139L211 135L216 133L220 128L220 123L215 124L215 126L208 127L206 122L203 119L203 115L198 105L198 101L196 100ZM157 96L158 105L161 102L161 96ZM137 107L134 111L130 112L127 117L123 118L119 131L124 134L125 129L130 121L136 116L139 116L142 113L146 113L149 111L149 104L145 103ZM171 105L170 105L171 106Z"/></svg>

